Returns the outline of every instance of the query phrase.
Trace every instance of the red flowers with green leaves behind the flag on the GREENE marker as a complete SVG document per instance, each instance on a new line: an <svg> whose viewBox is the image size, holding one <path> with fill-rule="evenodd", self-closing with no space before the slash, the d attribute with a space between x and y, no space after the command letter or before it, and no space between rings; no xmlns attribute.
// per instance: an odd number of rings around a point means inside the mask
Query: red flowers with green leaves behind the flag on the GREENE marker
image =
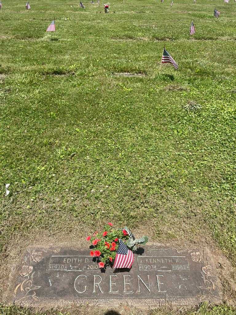
<svg viewBox="0 0 236 315"><path fill-rule="evenodd" d="M121 240L131 251L137 249L137 245L145 245L148 237L135 239L134 235L125 226L123 229L113 228L113 224L108 222L102 232L94 232L93 236L87 236L87 241L92 243L90 256L96 257L99 268L112 266L115 261L116 252Z"/></svg>

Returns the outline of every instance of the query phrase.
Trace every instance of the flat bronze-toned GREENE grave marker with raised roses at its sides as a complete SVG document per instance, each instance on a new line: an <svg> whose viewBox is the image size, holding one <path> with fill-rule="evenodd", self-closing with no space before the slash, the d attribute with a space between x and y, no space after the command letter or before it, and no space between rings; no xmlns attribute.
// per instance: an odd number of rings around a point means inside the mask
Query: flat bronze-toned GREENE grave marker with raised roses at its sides
<svg viewBox="0 0 236 315"><path fill-rule="evenodd" d="M104 272L89 249L31 246L10 278L11 301L24 306L179 306L222 296L207 249L144 246L131 270Z"/></svg>

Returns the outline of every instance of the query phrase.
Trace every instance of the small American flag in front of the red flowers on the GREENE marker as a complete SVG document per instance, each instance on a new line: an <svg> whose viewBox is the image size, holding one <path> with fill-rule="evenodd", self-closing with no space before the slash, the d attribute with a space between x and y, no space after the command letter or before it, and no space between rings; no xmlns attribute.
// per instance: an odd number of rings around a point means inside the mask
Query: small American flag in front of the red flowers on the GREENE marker
<svg viewBox="0 0 236 315"><path fill-rule="evenodd" d="M119 239L119 248L115 255L113 268L131 268L133 261L134 255L132 250L128 249L122 240Z"/></svg>

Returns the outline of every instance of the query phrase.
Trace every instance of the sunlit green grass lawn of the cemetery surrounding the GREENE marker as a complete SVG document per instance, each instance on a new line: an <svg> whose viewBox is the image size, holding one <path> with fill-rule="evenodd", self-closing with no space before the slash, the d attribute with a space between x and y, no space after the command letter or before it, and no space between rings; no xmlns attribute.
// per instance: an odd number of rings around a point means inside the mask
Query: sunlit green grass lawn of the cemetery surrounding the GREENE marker
<svg viewBox="0 0 236 315"><path fill-rule="evenodd" d="M224 255L224 304L186 314L235 313L236 4L170 2L114 0L104 14L102 2L87 0L86 9L74 0L35 1L30 11L4 1L2 314L35 313L4 306L10 268L27 245L85 247L107 221L151 242ZM46 33L54 18L56 32ZM160 70L164 45L178 71ZM115 76L123 72L143 76ZM188 111L189 104L201 107Z"/></svg>

